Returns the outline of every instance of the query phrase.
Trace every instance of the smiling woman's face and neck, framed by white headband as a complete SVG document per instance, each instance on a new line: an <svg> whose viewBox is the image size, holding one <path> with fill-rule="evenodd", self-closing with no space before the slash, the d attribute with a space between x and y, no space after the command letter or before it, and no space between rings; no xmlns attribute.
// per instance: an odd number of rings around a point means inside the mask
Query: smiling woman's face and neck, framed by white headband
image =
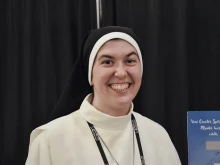
<svg viewBox="0 0 220 165"><path fill-rule="evenodd" d="M98 108L129 109L140 88L141 77L141 64L135 48L120 39L106 42L93 65L93 102Z"/></svg>

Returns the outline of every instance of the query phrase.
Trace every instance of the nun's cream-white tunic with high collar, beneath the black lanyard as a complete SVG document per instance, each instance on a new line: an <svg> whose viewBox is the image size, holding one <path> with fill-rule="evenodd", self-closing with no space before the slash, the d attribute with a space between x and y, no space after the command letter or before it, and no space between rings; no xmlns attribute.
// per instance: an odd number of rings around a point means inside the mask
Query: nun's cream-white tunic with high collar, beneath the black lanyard
<svg viewBox="0 0 220 165"><path fill-rule="evenodd" d="M33 130L26 165L104 165L87 121L95 126L120 165L133 165L133 161L141 165L131 113L137 121L146 165L181 165L163 127L133 112L133 105L126 116L104 114L90 104L91 97L85 98L79 110ZM102 147L109 165L116 165L103 143Z"/></svg>

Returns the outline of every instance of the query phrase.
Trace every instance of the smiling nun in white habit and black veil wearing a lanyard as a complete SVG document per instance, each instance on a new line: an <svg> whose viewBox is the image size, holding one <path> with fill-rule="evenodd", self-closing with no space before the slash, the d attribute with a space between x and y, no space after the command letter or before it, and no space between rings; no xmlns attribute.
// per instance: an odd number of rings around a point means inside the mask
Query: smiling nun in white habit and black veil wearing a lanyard
<svg viewBox="0 0 220 165"><path fill-rule="evenodd" d="M50 122L31 133L26 165L181 165L166 130L133 110L139 45L126 27L87 34Z"/></svg>

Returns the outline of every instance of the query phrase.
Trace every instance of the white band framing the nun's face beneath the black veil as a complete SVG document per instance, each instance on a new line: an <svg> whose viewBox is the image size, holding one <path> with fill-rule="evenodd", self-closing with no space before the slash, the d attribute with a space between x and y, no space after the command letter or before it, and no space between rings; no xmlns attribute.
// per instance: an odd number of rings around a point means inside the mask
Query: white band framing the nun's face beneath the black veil
<svg viewBox="0 0 220 165"><path fill-rule="evenodd" d="M141 51L140 48L137 44L137 42L128 34L126 33L122 33L122 32L111 32L108 33L104 36L102 36L94 45L90 57L89 57L89 73L88 73L88 79L89 79L89 84L91 85L92 82L92 67L93 67L93 63L95 60L95 57L99 51L99 49L101 48L101 46L106 43L107 41L111 40L111 39L115 39L115 38L119 38L119 39L123 39L125 41L127 41L128 43L130 43L137 51L138 53L138 57L141 63L141 74L143 74L143 61L142 61L142 56L141 56Z"/></svg>

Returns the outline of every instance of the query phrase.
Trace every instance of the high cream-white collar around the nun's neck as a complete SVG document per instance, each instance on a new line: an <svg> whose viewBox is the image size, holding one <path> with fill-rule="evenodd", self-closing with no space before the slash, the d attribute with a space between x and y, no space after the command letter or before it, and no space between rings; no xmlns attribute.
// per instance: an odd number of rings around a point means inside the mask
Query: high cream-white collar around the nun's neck
<svg viewBox="0 0 220 165"><path fill-rule="evenodd" d="M114 117L107 115L93 107L90 104L92 98L93 94L89 94L82 102L79 110L80 114L86 121L92 123L95 127L108 130L121 130L128 125L133 112L133 103L127 115Z"/></svg>

